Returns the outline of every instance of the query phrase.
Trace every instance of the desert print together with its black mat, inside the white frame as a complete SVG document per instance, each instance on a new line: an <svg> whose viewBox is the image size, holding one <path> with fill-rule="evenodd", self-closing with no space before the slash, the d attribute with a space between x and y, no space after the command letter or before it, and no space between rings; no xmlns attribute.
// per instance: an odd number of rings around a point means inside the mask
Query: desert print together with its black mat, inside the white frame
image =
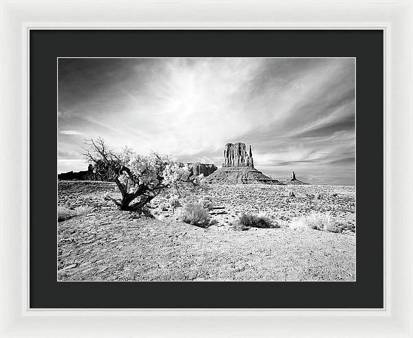
<svg viewBox="0 0 413 338"><path fill-rule="evenodd" d="M355 203L383 203L368 169L381 167L370 148L383 121L356 116L382 109L383 32L36 30L30 46L32 153L57 150L58 168L57 232L31 212L31 235L50 236L30 245L32 307L383 308L383 232L356 230ZM377 184L356 188L366 175ZM107 297L92 302L98 284ZM264 297L275 287L283 296Z"/></svg>

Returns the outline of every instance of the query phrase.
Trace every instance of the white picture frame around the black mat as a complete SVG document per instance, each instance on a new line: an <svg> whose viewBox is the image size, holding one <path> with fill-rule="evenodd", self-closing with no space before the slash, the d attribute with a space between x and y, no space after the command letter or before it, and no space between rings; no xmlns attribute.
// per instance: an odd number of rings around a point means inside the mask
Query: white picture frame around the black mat
<svg viewBox="0 0 413 338"><path fill-rule="evenodd" d="M412 1L0 2L1 337L413 337ZM383 30L385 307L30 309L28 37L56 28Z"/></svg>

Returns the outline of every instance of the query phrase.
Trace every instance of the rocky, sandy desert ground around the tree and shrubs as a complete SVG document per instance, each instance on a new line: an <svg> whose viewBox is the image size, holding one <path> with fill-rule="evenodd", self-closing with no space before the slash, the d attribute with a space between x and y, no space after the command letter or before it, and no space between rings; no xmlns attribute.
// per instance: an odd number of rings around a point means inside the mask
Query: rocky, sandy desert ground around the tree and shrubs
<svg viewBox="0 0 413 338"><path fill-rule="evenodd" d="M354 281L355 188L348 186L211 185L189 201L209 199L209 228L179 221L165 197L156 218L117 210L105 194L114 183L59 181L59 204L88 207L57 223L61 281ZM175 211L175 212L173 212ZM294 228L311 212L329 212L341 233ZM236 231L243 214L266 215L280 228Z"/></svg>

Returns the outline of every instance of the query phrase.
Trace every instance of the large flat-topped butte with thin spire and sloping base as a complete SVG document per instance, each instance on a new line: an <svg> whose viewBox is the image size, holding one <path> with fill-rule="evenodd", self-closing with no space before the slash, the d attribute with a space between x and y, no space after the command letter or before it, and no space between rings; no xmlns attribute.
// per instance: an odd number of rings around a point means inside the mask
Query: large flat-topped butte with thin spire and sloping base
<svg viewBox="0 0 413 338"><path fill-rule="evenodd" d="M246 151L245 143L226 143L224 162L208 177L212 184L282 184L254 168L251 146Z"/></svg>

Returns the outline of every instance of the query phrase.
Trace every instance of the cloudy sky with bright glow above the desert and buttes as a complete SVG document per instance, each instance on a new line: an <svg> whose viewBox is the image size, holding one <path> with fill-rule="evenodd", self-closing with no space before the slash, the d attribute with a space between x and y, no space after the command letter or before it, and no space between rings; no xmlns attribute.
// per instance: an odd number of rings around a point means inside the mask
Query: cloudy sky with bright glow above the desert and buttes
<svg viewBox="0 0 413 338"><path fill-rule="evenodd" d="M85 139L220 168L251 144L275 179L354 185L355 59L59 59L58 171L87 170Z"/></svg>

